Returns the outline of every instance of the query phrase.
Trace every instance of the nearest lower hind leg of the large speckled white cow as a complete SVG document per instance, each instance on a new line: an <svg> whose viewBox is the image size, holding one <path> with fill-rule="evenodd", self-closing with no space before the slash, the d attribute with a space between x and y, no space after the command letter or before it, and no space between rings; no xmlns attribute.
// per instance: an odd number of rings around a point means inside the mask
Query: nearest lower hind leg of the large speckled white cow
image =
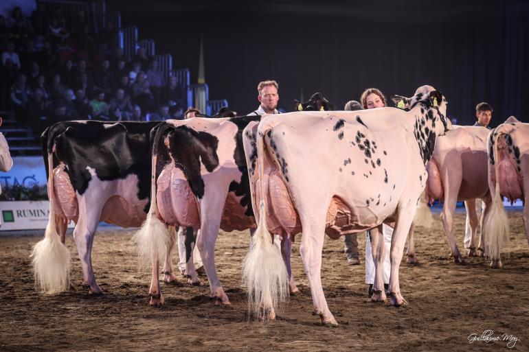
<svg viewBox="0 0 529 352"><path fill-rule="evenodd" d="M300 253L308 278L308 285L311 287L314 306L313 314L319 316L322 325L338 325L335 317L330 313L322 287L322 250L325 238L325 222L320 223L314 220L325 220L325 213L319 217L313 216L310 219L313 220L302 219L303 235Z"/></svg>

